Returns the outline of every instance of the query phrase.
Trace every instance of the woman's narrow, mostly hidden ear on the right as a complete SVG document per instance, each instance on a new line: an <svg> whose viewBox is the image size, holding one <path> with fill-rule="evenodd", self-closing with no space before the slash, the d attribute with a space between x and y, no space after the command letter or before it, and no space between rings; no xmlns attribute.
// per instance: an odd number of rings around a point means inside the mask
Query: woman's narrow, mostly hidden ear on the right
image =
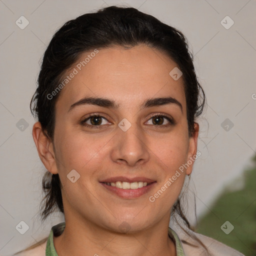
<svg viewBox="0 0 256 256"><path fill-rule="evenodd" d="M194 133L189 137L189 148L187 154L187 164L189 165L186 168L186 174L189 175L192 172L194 160L197 158L197 138L199 132L199 124L194 122Z"/></svg>

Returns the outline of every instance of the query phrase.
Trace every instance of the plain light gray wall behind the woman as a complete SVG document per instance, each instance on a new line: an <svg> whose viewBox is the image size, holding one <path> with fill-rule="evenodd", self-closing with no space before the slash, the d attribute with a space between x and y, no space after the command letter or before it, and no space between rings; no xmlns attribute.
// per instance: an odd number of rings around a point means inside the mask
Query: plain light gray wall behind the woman
<svg viewBox="0 0 256 256"><path fill-rule="evenodd" d="M42 225L37 214L44 166L31 135L29 102L46 45L65 21L112 4L139 8L180 29L195 55L208 104L190 184L198 216L230 181L236 179L232 189L243 185L239 177L256 144L255 0L0 0L0 255L47 236L63 220L56 213ZM29 22L24 29L21 15ZM231 19L223 19L227 15ZM21 220L29 226L23 235L15 229Z"/></svg>

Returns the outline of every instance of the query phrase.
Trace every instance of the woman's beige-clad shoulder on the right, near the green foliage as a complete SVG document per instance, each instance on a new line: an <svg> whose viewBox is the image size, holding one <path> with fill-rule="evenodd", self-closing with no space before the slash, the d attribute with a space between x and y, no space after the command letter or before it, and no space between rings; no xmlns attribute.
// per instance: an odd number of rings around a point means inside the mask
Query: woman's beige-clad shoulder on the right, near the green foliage
<svg viewBox="0 0 256 256"><path fill-rule="evenodd" d="M219 242L211 237L205 236L203 234L199 234L196 232L191 232L194 236L196 236L207 248L208 253L206 250L197 242L192 236L188 235L186 237L182 237L181 243L187 256L193 255L212 255L212 256L244 256L241 252ZM188 244L188 243L190 244ZM192 244L192 245L191 245ZM196 247L193 245L197 245ZM198 254L199 252L199 254Z"/></svg>

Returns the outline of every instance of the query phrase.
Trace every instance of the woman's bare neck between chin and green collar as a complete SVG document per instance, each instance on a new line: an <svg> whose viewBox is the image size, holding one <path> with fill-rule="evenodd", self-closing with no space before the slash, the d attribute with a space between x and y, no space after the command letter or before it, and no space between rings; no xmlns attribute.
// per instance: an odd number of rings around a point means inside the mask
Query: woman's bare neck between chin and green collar
<svg viewBox="0 0 256 256"><path fill-rule="evenodd" d="M56 252L61 256L176 255L175 244L168 236L168 218L132 234L104 229L84 219L65 219L64 231L53 237Z"/></svg>

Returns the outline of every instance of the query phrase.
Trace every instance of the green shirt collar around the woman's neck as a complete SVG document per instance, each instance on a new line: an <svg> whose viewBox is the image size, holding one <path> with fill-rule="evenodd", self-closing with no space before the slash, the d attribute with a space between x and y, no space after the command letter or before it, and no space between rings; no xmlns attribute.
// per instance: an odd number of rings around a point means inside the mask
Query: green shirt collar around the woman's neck
<svg viewBox="0 0 256 256"><path fill-rule="evenodd" d="M64 228L65 228L65 222L61 222L61 223L58 223L57 225L52 226L50 230L50 234L47 239L46 251L45 251L46 256L58 256L53 244L53 234L54 236L60 235L63 232ZM170 227L168 228L168 235L174 238L175 246L176 246L176 256L185 256L185 253L183 251L181 242L177 234Z"/></svg>

